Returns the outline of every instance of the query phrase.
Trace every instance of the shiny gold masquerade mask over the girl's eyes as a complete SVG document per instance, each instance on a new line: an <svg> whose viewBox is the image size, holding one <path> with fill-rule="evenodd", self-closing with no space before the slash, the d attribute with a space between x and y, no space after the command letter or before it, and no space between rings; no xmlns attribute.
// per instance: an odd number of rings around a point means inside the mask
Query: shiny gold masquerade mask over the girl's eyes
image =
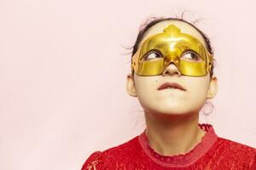
<svg viewBox="0 0 256 170"><path fill-rule="evenodd" d="M182 75L202 77L211 71L212 54L196 37L169 25L143 42L131 59L131 71L139 76L155 76L171 63Z"/></svg>

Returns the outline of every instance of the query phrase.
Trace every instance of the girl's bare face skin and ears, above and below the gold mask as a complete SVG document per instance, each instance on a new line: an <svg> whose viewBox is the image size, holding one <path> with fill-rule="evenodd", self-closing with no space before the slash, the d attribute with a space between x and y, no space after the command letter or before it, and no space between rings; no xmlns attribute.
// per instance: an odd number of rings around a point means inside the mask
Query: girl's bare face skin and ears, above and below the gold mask
<svg viewBox="0 0 256 170"><path fill-rule="evenodd" d="M181 31L198 38L206 47L204 38L195 30L193 26L179 21L168 20L152 26L144 35L142 43L150 36L160 33L163 28L173 24ZM158 90L160 85L165 82L177 82L185 90L168 88ZM138 97L143 109L148 112L163 114L185 114L194 113L201 110L206 99L212 99L218 92L217 78L210 78L208 73L202 77L183 76L178 71L176 65L170 64L162 75L157 76L127 76L127 93L131 96Z"/></svg>

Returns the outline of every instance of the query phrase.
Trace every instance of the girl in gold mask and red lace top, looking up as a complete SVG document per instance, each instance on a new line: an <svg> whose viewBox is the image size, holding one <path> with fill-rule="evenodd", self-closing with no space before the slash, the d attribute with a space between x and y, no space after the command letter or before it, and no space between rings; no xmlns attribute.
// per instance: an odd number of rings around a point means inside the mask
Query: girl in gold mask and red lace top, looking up
<svg viewBox="0 0 256 170"><path fill-rule="evenodd" d="M152 20L133 46L127 93L143 106L146 129L95 151L82 170L256 169L256 149L218 137L199 112L218 92L207 36L183 19Z"/></svg>

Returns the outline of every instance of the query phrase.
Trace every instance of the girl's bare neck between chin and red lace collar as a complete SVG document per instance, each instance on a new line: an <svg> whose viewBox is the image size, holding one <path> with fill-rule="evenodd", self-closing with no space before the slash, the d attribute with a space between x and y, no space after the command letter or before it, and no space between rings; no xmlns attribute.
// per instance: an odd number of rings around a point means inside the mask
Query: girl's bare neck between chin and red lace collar
<svg viewBox="0 0 256 170"><path fill-rule="evenodd" d="M185 154L206 133L198 127L199 113L152 114L145 111L146 135L152 149L163 156Z"/></svg>

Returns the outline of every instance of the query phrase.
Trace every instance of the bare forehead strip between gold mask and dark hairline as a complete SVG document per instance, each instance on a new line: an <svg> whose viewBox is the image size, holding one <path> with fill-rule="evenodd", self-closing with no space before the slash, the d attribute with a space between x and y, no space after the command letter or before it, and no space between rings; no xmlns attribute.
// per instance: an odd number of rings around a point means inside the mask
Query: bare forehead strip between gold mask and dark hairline
<svg viewBox="0 0 256 170"><path fill-rule="evenodd" d="M201 33L197 31L193 26L190 26L188 23L183 22L181 20L165 20L165 21L160 21L159 23L155 24L154 26L150 27L148 31L145 32L144 37L142 41L140 42L140 45L143 44L143 42L148 39L148 37L153 36L154 34L158 34L163 32L163 30L169 26L169 25L174 25L177 26L181 32L189 34L193 37L196 37L205 47L205 40L201 36Z"/></svg>

